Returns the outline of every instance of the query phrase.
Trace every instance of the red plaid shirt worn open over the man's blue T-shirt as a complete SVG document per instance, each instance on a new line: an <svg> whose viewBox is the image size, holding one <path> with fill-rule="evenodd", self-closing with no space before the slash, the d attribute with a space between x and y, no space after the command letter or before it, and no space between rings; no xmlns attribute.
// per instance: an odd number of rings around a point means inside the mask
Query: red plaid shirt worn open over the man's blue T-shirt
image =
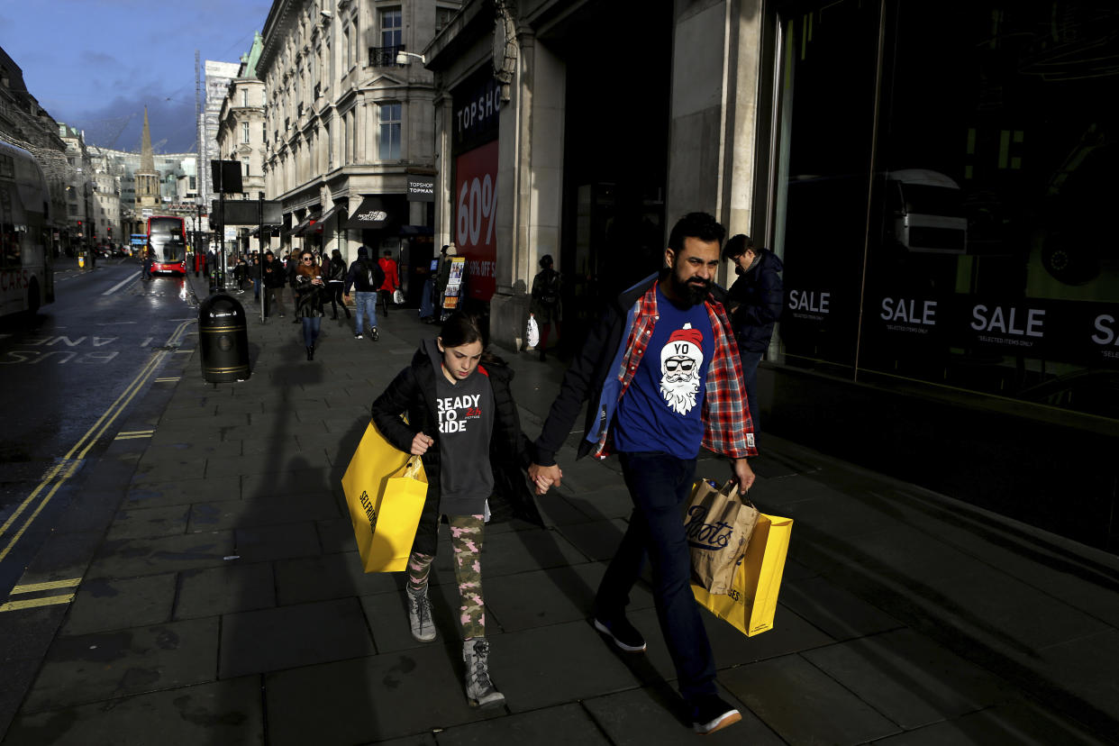
<svg viewBox="0 0 1119 746"><path fill-rule="evenodd" d="M660 319L657 311L657 284L653 283L633 304L633 327L626 340L626 355L618 370L618 380L621 384L619 400L633 380L652 337L652 329ZM746 403L742 365L739 361L739 348L734 334L731 332L731 321L723 304L715 302L709 295L704 301L704 308L707 309L707 318L711 319L715 353L707 369L707 386L704 389L702 445L708 451L732 459L755 456L758 448L754 446L754 422ZM608 440L609 434L603 433L592 452L594 457L604 459L608 455Z"/></svg>

